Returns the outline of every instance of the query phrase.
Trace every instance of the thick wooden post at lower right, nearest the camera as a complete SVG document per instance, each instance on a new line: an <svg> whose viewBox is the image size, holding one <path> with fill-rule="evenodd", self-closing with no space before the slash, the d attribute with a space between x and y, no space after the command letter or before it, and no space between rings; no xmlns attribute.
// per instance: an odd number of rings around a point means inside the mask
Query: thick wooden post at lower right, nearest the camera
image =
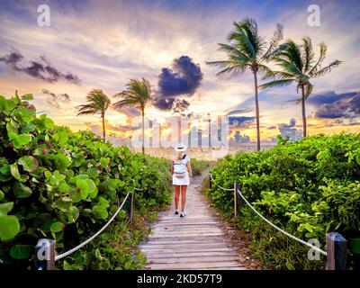
<svg viewBox="0 0 360 288"><path fill-rule="evenodd" d="M338 232L331 232L327 237L327 270L347 269L347 239Z"/></svg>

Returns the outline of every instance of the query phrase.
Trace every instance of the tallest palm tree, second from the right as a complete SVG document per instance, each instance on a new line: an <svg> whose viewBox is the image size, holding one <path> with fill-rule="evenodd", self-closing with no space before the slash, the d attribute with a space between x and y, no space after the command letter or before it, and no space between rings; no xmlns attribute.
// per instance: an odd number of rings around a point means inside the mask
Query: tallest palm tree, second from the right
<svg viewBox="0 0 360 288"><path fill-rule="evenodd" d="M276 30L268 46L266 40L257 31L257 22L245 19L240 23L233 23L235 29L228 36L229 44L219 44L220 50L227 52L228 59L206 62L220 67L217 75L231 73L232 75L249 69L254 76L255 106L257 115L257 150L260 149L260 116L257 92L257 74L267 74L270 68L266 62L274 57L277 45L283 39L283 26L277 24ZM267 46L267 48L266 48Z"/></svg>

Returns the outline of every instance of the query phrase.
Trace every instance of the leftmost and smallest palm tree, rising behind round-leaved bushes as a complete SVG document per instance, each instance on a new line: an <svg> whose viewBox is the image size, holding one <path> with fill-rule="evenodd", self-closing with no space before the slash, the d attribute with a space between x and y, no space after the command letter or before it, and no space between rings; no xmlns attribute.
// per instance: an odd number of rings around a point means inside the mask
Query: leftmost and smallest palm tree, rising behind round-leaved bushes
<svg viewBox="0 0 360 288"><path fill-rule="evenodd" d="M103 141L106 141L105 131L105 112L109 107L111 101L109 97L103 93L101 89L93 89L86 96L87 104L76 106L77 114L79 115L94 115L100 113L103 119Z"/></svg>

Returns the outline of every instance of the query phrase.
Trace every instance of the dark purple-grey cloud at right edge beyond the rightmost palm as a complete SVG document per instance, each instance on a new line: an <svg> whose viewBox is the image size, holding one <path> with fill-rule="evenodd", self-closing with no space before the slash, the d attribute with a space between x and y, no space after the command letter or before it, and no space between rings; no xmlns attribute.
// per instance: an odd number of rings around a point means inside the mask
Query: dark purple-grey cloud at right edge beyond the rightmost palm
<svg viewBox="0 0 360 288"><path fill-rule="evenodd" d="M317 118L353 118L360 116L360 93L343 97L333 103L322 103L317 107Z"/></svg>

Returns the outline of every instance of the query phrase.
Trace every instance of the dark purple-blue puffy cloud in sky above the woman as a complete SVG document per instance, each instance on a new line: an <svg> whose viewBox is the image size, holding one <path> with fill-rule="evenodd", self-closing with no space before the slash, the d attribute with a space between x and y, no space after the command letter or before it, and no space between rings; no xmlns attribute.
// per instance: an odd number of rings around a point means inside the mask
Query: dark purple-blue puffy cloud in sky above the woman
<svg viewBox="0 0 360 288"><path fill-rule="evenodd" d="M158 76L158 94L153 104L160 110L178 109L179 106L187 108L188 102L177 100L177 97L193 95L202 83L202 76L200 66L194 64L192 58L176 58L171 68L162 68Z"/></svg>

